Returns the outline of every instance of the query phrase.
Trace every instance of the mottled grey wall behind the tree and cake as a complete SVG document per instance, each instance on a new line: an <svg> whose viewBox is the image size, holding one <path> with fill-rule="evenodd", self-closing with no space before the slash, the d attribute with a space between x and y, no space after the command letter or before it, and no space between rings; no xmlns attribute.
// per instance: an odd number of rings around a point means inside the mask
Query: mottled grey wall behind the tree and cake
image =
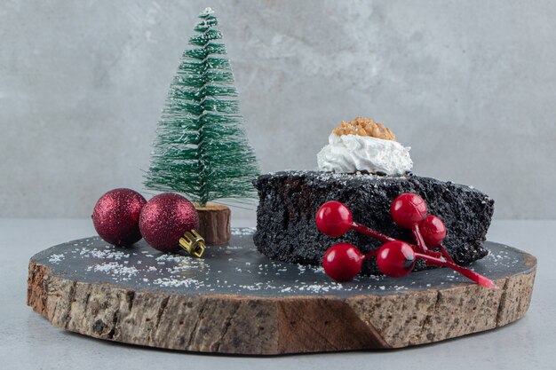
<svg viewBox="0 0 556 370"><path fill-rule="evenodd" d="M0 216L84 217L144 190L208 5L264 171L314 169L334 125L370 116L415 173L474 185L497 218L556 217L556 2L483 0L2 0Z"/></svg>

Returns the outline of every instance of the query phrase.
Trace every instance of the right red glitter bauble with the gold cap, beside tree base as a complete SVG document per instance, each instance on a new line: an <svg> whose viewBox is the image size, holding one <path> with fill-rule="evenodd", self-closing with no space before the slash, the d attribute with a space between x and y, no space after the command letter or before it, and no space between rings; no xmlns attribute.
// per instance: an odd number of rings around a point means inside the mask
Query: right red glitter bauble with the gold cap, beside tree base
<svg viewBox="0 0 556 370"><path fill-rule="evenodd" d="M199 215L191 201L176 193L153 197L141 211L139 230L147 243L162 252L179 248L185 232L199 228Z"/></svg>

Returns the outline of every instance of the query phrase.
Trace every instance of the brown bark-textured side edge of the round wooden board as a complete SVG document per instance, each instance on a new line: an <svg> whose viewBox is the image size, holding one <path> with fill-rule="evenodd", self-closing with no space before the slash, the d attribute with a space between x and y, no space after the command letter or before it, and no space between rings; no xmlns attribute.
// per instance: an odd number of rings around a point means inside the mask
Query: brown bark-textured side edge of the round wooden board
<svg viewBox="0 0 556 370"><path fill-rule="evenodd" d="M171 350L279 355L393 349L502 327L528 311L536 259L497 279L394 295L246 297L133 291L29 263L28 305L54 327ZM247 325L246 325L247 324Z"/></svg>

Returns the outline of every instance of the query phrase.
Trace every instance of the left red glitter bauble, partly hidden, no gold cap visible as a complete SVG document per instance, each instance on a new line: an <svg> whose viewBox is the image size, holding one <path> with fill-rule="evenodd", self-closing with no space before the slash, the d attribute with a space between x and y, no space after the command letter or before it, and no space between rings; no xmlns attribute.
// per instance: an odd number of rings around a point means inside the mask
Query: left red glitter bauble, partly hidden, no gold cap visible
<svg viewBox="0 0 556 370"><path fill-rule="evenodd" d="M126 188L102 195L91 216L99 237L115 246L129 246L139 241L139 215L146 203L141 194Z"/></svg>

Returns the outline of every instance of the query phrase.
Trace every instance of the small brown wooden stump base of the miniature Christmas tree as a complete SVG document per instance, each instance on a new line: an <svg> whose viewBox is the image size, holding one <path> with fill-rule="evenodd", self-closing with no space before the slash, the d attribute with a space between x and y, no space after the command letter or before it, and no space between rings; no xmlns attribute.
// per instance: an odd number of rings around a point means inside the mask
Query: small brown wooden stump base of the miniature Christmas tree
<svg viewBox="0 0 556 370"><path fill-rule="evenodd" d="M204 207L195 203L199 213L199 230L208 245L221 246L230 240L230 217L232 211L222 204L207 203Z"/></svg>

